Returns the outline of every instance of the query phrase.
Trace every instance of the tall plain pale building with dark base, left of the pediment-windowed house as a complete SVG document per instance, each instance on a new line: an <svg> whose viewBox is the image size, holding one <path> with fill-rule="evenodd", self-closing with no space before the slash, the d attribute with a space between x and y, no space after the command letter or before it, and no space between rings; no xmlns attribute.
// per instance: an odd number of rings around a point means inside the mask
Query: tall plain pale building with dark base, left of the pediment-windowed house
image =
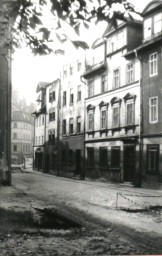
<svg viewBox="0 0 162 256"><path fill-rule="evenodd" d="M84 51L73 50L61 72L61 173L84 176Z"/></svg>

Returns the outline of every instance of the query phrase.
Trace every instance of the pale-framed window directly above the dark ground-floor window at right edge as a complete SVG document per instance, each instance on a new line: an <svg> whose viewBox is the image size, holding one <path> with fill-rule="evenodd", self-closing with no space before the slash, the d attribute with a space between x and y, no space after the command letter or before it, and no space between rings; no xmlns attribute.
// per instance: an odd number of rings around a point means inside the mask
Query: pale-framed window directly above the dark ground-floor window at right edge
<svg viewBox="0 0 162 256"><path fill-rule="evenodd" d="M158 97L149 99L149 116L151 124L158 122Z"/></svg>

